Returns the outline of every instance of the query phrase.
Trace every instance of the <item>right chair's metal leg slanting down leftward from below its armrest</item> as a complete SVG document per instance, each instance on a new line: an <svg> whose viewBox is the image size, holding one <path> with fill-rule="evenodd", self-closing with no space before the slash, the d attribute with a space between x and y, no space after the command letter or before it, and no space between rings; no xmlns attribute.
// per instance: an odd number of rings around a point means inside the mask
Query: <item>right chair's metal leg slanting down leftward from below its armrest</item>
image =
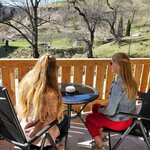
<svg viewBox="0 0 150 150"><path fill-rule="evenodd" d="M112 150L116 150L118 146L123 142L125 137L130 133L130 131L134 128L134 126L138 123L138 120L135 120L134 123L124 132L124 134L120 137L117 143L113 146Z"/></svg>

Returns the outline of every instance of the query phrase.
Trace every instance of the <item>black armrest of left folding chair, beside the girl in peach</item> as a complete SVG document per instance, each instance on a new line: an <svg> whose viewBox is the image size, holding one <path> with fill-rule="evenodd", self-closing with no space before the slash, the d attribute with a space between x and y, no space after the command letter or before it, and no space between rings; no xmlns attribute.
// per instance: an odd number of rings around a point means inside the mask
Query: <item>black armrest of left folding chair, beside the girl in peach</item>
<svg viewBox="0 0 150 150"><path fill-rule="evenodd" d="M36 139L38 139L41 135L46 133L50 128L58 123L58 120L52 121L49 125L45 126L42 130L40 130L33 138L28 141L29 144L32 144Z"/></svg>

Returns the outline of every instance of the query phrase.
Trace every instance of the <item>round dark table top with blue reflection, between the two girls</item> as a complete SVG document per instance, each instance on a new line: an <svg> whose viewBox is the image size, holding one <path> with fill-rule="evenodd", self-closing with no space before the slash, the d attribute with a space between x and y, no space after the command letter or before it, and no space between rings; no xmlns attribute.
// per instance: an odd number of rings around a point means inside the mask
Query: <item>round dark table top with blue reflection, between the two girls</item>
<svg viewBox="0 0 150 150"><path fill-rule="evenodd" d="M93 87L83 84L59 83L58 86L62 93L62 99L64 104L71 104L71 105L85 104L87 102L94 101L99 96L98 92ZM74 93L67 93L65 91L65 88L67 86L74 86L76 88L76 91Z"/></svg>

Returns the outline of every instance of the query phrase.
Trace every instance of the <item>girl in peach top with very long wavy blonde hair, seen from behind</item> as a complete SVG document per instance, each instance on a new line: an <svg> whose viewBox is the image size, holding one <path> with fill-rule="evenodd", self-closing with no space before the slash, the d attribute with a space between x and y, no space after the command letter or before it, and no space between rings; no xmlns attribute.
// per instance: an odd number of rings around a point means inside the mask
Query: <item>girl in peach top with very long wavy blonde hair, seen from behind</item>
<svg viewBox="0 0 150 150"><path fill-rule="evenodd" d="M62 120L62 96L58 89L57 62L48 54L42 56L19 83L18 116L27 139L32 138L53 120ZM55 140L60 135L57 125L50 129ZM42 137L34 144L40 145ZM49 145L46 142L45 146Z"/></svg>

